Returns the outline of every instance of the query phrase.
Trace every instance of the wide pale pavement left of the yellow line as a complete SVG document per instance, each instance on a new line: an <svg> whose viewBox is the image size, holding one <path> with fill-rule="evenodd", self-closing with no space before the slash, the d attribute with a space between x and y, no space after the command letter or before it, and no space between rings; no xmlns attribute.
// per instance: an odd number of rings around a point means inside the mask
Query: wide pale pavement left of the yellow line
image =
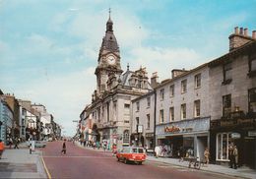
<svg viewBox="0 0 256 179"><path fill-rule="evenodd" d="M0 178L47 178L41 158L42 151L35 149L30 154L26 144L20 149L4 150L0 159Z"/></svg>

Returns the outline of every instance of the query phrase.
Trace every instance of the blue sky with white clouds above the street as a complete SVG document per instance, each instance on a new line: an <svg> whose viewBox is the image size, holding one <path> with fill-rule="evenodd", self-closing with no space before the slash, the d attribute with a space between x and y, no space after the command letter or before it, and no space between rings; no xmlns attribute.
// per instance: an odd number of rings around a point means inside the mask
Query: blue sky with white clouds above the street
<svg viewBox="0 0 256 179"><path fill-rule="evenodd" d="M45 105L73 136L109 8L123 71L146 67L160 81L227 53L234 27L256 30L256 0L0 0L0 89Z"/></svg>

